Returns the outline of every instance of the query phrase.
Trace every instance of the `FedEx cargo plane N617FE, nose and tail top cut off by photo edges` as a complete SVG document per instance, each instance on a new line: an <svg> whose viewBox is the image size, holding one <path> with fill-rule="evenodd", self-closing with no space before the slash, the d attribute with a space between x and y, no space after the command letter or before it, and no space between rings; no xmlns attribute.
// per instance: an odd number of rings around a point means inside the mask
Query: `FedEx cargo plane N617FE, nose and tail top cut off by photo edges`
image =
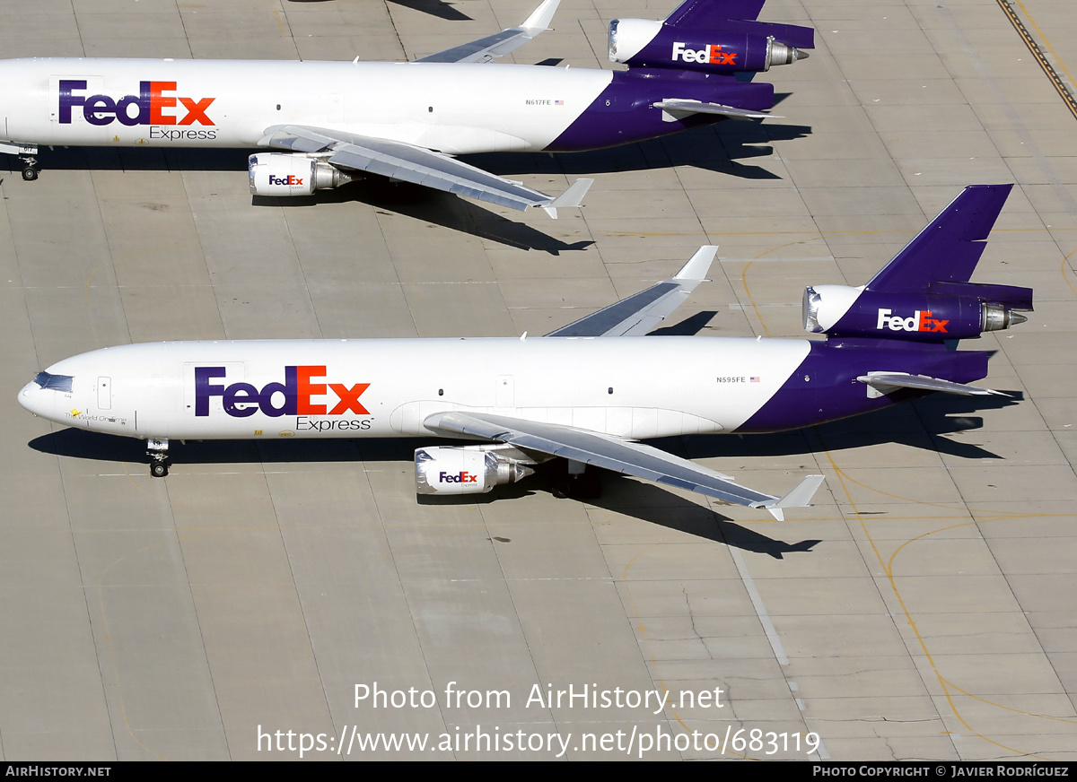
<svg viewBox="0 0 1077 782"><path fill-rule="evenodd" d="M686 0L663 22L614 19L625 71L489 66L547 29L519 27L412 62L13 59L0 61L0 153L38 177L39 145L257 148L255 196L309 196L364 174L524 210L578 207L457 158L576 152L726 117L764 117L770 84L745 77L807 56L811 28L758 22L764 0Z"/></svg>

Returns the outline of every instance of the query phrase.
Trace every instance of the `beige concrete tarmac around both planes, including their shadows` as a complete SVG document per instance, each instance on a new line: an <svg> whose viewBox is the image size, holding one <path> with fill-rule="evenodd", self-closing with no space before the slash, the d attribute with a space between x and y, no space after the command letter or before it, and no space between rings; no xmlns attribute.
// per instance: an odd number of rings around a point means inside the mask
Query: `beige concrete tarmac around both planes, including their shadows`
<svg viewBox="0 0 1077 782"><path fill-rule="evenodd" d="M610 68L611 18L674 5L564 0L509 59ZM3 2L0 52L404 59L530 10ZM473 159L593 176L557 222L378 181L252 203L247 151L42 150L32 183L5 158L0 757L1077 759L1077 116L1007 10L1072 89L1069 3L770 0L817 30L760 76L784 118ZM422 440L192 442L154 480L141 443L15 400L128 342L545 333L704 243L675 319L798 336L805 285L866 282L1009 182L975 280L1036 312L967 346L1012 398L659 443L773 494L825 474L782 523L615 475L595 502L538 475L420 504Z"/></svg>

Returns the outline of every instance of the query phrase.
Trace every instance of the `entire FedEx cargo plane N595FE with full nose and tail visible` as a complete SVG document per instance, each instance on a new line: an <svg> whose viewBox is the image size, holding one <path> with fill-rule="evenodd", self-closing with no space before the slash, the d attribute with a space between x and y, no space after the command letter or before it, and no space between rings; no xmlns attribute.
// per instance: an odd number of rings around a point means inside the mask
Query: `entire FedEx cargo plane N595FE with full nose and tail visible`
<svg viewBox="0 0 1077 782"><path fill-rule="evenodd" d="M439 437L482 444L415 452L420 494L465 495L568 459L555 493L593 490L587 466L765 508L802 507L640 441L796 429L931 392L992 394L984 351L947 342L1008 328L1032 290L969 282L1010 185L966 188L867 285L803 296L823 340L643 336L703 282L716 247L671 280L545 337L159 342L84 353L18 394L30 412L145 439Z"/></svg>

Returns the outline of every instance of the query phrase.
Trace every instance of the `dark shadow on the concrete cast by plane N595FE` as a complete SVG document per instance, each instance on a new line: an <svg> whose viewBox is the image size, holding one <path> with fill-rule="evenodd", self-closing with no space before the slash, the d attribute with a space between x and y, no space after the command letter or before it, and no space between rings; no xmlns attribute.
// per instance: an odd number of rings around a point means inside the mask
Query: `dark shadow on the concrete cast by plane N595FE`
<svg viewBox="0 0 1077 782"><path fill-rule="evenodd" d="M658 447L686 458L726 459L725 469L733 466L751 468L758 457L803 456L798 472L814 471L814 454L820 451L840 453L870 445L897 442L910 447L936 451L968 459L1002 458L975 443L945 437L982 425L970 413L1018 403L1022 395L1011 397L952 397L941 394L911 404L873 414L835 422L812 429L754 435L752 437L693 436L654 441ZM854 423L862 422L862 423ZM863 423L867 422L867 424ZM208 440L171 443L173 465L221 464L304 464L319 461L396 461L408 463L417 447L430 445L430 438L370 440ZM30 447L41 453L125 465L146 464L141 440L61 429L30 441ZM723 469L723 465L717 466ZM560 460L540 465L536 474L507 486L498 486L490 494L447 498L420 498L424 504L485 504L512 501L536 492L549 492L563 475ZM803 540L787 543L774 540L733 523L713 510L677 496L660 486L603 472L603 490L598 498L587 498L588 504L641 521L675 529L707 540L782 558L784 554L810 552L820 541ZM779 486L775 490L782 489ZM567 500L574 501L574 500ZM763 511L760 511L763 513Z"/></svg>

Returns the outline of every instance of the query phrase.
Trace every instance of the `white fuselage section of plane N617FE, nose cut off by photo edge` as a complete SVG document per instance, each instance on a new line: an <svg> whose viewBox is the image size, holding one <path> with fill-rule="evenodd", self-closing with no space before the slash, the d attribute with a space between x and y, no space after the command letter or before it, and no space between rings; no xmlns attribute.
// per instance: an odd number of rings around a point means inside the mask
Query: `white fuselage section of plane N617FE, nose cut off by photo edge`
<svg viewBox="0 0 1077 782"><path fill-rule="evenodd" d="M536 151L612 79L514 65L14 59L0 61L0 139L255 147L295 124L451 155Z"/></svg>

